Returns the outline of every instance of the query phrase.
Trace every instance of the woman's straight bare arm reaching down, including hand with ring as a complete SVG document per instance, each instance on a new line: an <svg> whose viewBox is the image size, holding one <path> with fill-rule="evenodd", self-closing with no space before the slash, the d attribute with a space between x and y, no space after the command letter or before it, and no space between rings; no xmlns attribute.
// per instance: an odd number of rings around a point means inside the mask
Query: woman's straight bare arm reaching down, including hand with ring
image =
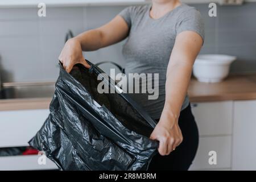
<svg viewBox="0 0 256 182"><path fill-rule="evenodd" d="M203 39L193 31L177 35L166 76L166 101L151 139L159 140L159 154L168 155L179 146L183 137L178 125L179 114L187 94L193 63L200 52Z"/></svg>

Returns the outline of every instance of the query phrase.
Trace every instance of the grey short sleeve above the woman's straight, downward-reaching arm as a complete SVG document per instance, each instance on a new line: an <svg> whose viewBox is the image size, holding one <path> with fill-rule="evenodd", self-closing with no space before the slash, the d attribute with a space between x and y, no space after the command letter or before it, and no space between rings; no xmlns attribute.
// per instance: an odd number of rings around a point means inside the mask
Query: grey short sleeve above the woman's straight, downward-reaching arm
<svg viewBox="0 0 256 182"><path fill-rule="evenodd" d="M196 9L185 11L180 15L177 25L176 34L183 31L194 31L203 38L204 41L204 20Z"/></svg>

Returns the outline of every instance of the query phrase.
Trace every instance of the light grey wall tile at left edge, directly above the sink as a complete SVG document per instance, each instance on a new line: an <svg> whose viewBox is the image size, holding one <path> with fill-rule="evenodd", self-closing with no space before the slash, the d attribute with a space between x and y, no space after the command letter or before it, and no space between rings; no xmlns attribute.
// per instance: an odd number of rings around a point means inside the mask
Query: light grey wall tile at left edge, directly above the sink
<svg viewBox="0 0 256 182"><path fill-rule="evenodd" d="M35 80L42 76L34 75L41 69L38 36L6 36L0 39L1 68L7 72L3 81Z"/></svg>

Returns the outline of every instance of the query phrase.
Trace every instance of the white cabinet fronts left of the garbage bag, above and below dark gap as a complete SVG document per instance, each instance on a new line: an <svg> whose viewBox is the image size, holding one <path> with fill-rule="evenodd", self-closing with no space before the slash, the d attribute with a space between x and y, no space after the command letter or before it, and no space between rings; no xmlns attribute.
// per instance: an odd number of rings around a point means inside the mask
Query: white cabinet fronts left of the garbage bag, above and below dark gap
<svg viewBox="0 0 256 182"><path fill-rule="evenodd" d="M0 111L0 148L28 146L48 115L48 109ZM0 156L0 171L57 169L51 160L39 165L38 159L38 155Z"/></svg>

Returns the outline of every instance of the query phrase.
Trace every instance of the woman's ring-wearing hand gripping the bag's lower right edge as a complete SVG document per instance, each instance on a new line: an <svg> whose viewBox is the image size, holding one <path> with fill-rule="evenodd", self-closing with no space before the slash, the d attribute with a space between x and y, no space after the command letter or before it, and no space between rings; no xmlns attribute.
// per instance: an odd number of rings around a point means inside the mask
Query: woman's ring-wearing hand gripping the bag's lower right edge
<svg viewBox="0 0 256 182"><path fill-rule="evenodd" d="M169 155L183 141L177 119L173 119L168 113L162 113L150 139L159 141L160 155Z"/></svg>

